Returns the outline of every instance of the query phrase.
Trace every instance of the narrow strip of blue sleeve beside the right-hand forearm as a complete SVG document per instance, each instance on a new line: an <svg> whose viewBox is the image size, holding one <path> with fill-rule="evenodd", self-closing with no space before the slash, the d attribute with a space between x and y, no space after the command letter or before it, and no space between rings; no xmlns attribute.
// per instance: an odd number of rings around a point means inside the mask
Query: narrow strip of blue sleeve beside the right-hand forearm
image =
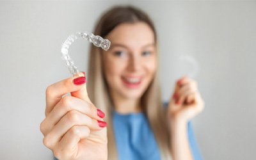
<svg viewBox="0 0 256 160"><path fill-rule="evenodd" d="M189 145L190 145L194 160L202 160L202 156L198 149L198 145L196 143L196 139L195 139L193 128L192 128L192 124L190 121L188 122L188 138L189 138Z"/></svg>

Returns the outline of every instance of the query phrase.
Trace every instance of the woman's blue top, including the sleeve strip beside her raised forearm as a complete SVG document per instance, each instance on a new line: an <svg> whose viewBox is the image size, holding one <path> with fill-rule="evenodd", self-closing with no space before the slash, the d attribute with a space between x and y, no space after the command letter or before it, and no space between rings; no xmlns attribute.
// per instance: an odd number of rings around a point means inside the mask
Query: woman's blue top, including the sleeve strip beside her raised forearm
<svg viewBox="0 0 256 160"><path fill-rule="evenodd" d="M122 115L113 112L113 130L115 133L118 159L120 160L160 160L160 152L154 133L143 113ZM195 160L201 160L191 122L188 122L188 138Z"/></svg>

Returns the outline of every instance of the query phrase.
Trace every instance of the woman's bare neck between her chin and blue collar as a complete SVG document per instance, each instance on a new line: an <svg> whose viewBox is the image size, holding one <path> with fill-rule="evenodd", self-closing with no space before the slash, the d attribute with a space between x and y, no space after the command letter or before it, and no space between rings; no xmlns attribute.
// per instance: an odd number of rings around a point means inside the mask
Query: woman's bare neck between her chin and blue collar
<svg viewBox="0 0 256 160"><path fill-rule="evenodd" d="M140 99L127 99L113 95L113 103L118 113L138 113L141 112Z"/></svg>

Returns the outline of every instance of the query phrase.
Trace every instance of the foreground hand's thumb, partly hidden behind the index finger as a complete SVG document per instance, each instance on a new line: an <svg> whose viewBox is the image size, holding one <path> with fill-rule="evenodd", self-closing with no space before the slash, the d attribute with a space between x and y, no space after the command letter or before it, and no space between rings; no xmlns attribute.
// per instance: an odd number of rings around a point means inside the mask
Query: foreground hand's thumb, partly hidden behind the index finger
<svg viewBox="0 0 256 160"><path fill-rule="evenodd" d="M85 72L79 72L78 76L86 77ZM83 87L80 90L77 90L75 92L71 92L71 95L73 97L77 97L79 99L83 99L83 100L86 100L87 102L92 103L91 100L88 97L88 93L87 93L87 89L86 89L86 78L85 78L85 84L83 84Z"/></svg>

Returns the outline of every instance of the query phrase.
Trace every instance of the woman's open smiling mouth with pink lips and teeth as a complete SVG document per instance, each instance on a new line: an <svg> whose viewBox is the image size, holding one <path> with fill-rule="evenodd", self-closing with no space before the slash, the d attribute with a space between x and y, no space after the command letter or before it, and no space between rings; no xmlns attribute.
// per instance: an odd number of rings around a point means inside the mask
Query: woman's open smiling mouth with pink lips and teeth
<svg viewBox="0 0 256 160"><path fill-rule="evenodd" d="M139 88L142 82L142 77L122 77L122 82L127 88Z"/></svg>

